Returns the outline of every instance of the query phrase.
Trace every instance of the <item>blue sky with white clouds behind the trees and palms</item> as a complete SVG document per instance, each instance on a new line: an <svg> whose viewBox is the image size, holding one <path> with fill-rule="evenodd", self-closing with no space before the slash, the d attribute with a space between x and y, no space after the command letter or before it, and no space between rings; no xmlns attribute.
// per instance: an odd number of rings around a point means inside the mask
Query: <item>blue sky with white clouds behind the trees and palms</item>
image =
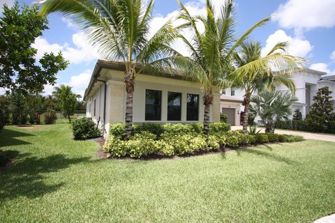
<svg viewBox="0 0 335 223"><path fill-rule="evenodd" d="M14 0L0 0L13 5ZM205 13L204 0L182 0L193 15ZM223 0L213 0L219 6ZM20 5L30 5L33 0L19 0ZM271 21L258 29L249 40L262 43L262 52L268 52L278 41L288 41L288 52L293 56L302 56L308 60L307 68L335 74L335 0L235 0L234 17L236 36L239 37L253 24L271 16ZM160 28L170 17L178 14L176 0L156 0L151 33ZM1 10L0 10L1 13ZM34 47L38 49L37 59L44 52L61 51L70 61L66 70L57 75L57 85L68 84L73 91L84 95L89 84L91 72L99 55L87 43L84 32L61 15L49 15L49 28L43 36L36 39ZM188 35L189 33L185 33ZM191 34L190 34L191 35ZM181 43L174 47L187 55ZM53 86L45 86L45 95L52 92Z"/></svg>

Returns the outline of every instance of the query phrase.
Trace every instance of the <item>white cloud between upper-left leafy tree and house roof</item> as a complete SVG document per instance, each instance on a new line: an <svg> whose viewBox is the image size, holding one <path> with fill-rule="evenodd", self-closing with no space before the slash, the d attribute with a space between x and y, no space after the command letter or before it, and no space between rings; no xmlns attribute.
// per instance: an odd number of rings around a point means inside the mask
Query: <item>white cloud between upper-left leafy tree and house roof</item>
<svg viewBox="0 0 335 223"><path fill-rule="evenodd" d="M65 59L71 64L89 63L98 59L97 50L89 45L83 32L75 33L72 36L72 41L75 47L70 47L68 43L59 45L57 43L49 43L47 39L38 37L32 45L36 49L37 59L40 59L45 52L54 52L55 54L61 51Z"/></svg>

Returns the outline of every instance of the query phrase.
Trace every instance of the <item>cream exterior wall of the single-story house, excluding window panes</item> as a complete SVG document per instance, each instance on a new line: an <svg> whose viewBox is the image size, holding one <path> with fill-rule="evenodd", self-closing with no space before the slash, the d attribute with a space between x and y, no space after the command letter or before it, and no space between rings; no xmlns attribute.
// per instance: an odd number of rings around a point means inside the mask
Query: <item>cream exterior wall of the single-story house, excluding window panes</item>
<svg viewBox="0 0 335 223"><path fill-rule="evenodd" d="M124 73L117 70L105 70L101 72L101 79L107 79L107 98L106 98L106 121L105 121L105 137L109 132L109 126L112 123L123 123L125 121L126 109L126 89L124 86ZM87 116L94 121L100 116L103 118L103 83L94 85L87 99ZM145 121L145 90L162 91L161 101L161 121ZM181 121L168 121L168 91L181 93ZM187 93L199 95L199 119L198 121L186 121ZM135 89L133 94L133 123L194 123L202 122L204 118L203 96L198 84L186 82L179 79L170 79L164 77L156 77L150 75L139 75L135 79ZM96 107L98 108L96 116L94 116L94 99L96 99ZM98 103L99 102L99 103ZM91 112L89 106L91 105ZM210 110L210 121L220 121L220 93L216 89L214 91L213 106ZM103 121L102 121L103 123ZM99 125L100 126L100 125ZM101 126L102 127L102 126Z"/></svg>

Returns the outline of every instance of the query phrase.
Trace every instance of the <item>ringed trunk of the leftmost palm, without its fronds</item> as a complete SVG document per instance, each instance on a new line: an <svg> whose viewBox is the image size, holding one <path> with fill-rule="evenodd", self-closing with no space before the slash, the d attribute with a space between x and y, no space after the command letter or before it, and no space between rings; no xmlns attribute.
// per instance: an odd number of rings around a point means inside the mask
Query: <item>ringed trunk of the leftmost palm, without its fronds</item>
<svg viewBox="0 0 335 223"><path fill-rule="evenodd" d="M124 82L126 83L126 137L131 137L131 127L133 125L133 93L134 93L134 77L131 72L125 74Z"/></svg>

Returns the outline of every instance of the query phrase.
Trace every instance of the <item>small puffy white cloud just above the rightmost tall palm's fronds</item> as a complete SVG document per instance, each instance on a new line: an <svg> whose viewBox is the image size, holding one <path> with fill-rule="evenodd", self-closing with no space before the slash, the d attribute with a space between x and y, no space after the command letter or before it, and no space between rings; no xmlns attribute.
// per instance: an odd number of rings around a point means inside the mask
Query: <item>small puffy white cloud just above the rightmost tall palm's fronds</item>
<svg viewBox="0 0 335 223"><path fill-rule="evenodd" d="M285 31L279 29L275 33L271 34L267 38L266 45L262 49L262 55L266 55L274 45L278 42L288 42L288 48L286 49L292 56L306 57L311 53L313 46L308 40L302 40L301 38L288 36Z"/></svg>

